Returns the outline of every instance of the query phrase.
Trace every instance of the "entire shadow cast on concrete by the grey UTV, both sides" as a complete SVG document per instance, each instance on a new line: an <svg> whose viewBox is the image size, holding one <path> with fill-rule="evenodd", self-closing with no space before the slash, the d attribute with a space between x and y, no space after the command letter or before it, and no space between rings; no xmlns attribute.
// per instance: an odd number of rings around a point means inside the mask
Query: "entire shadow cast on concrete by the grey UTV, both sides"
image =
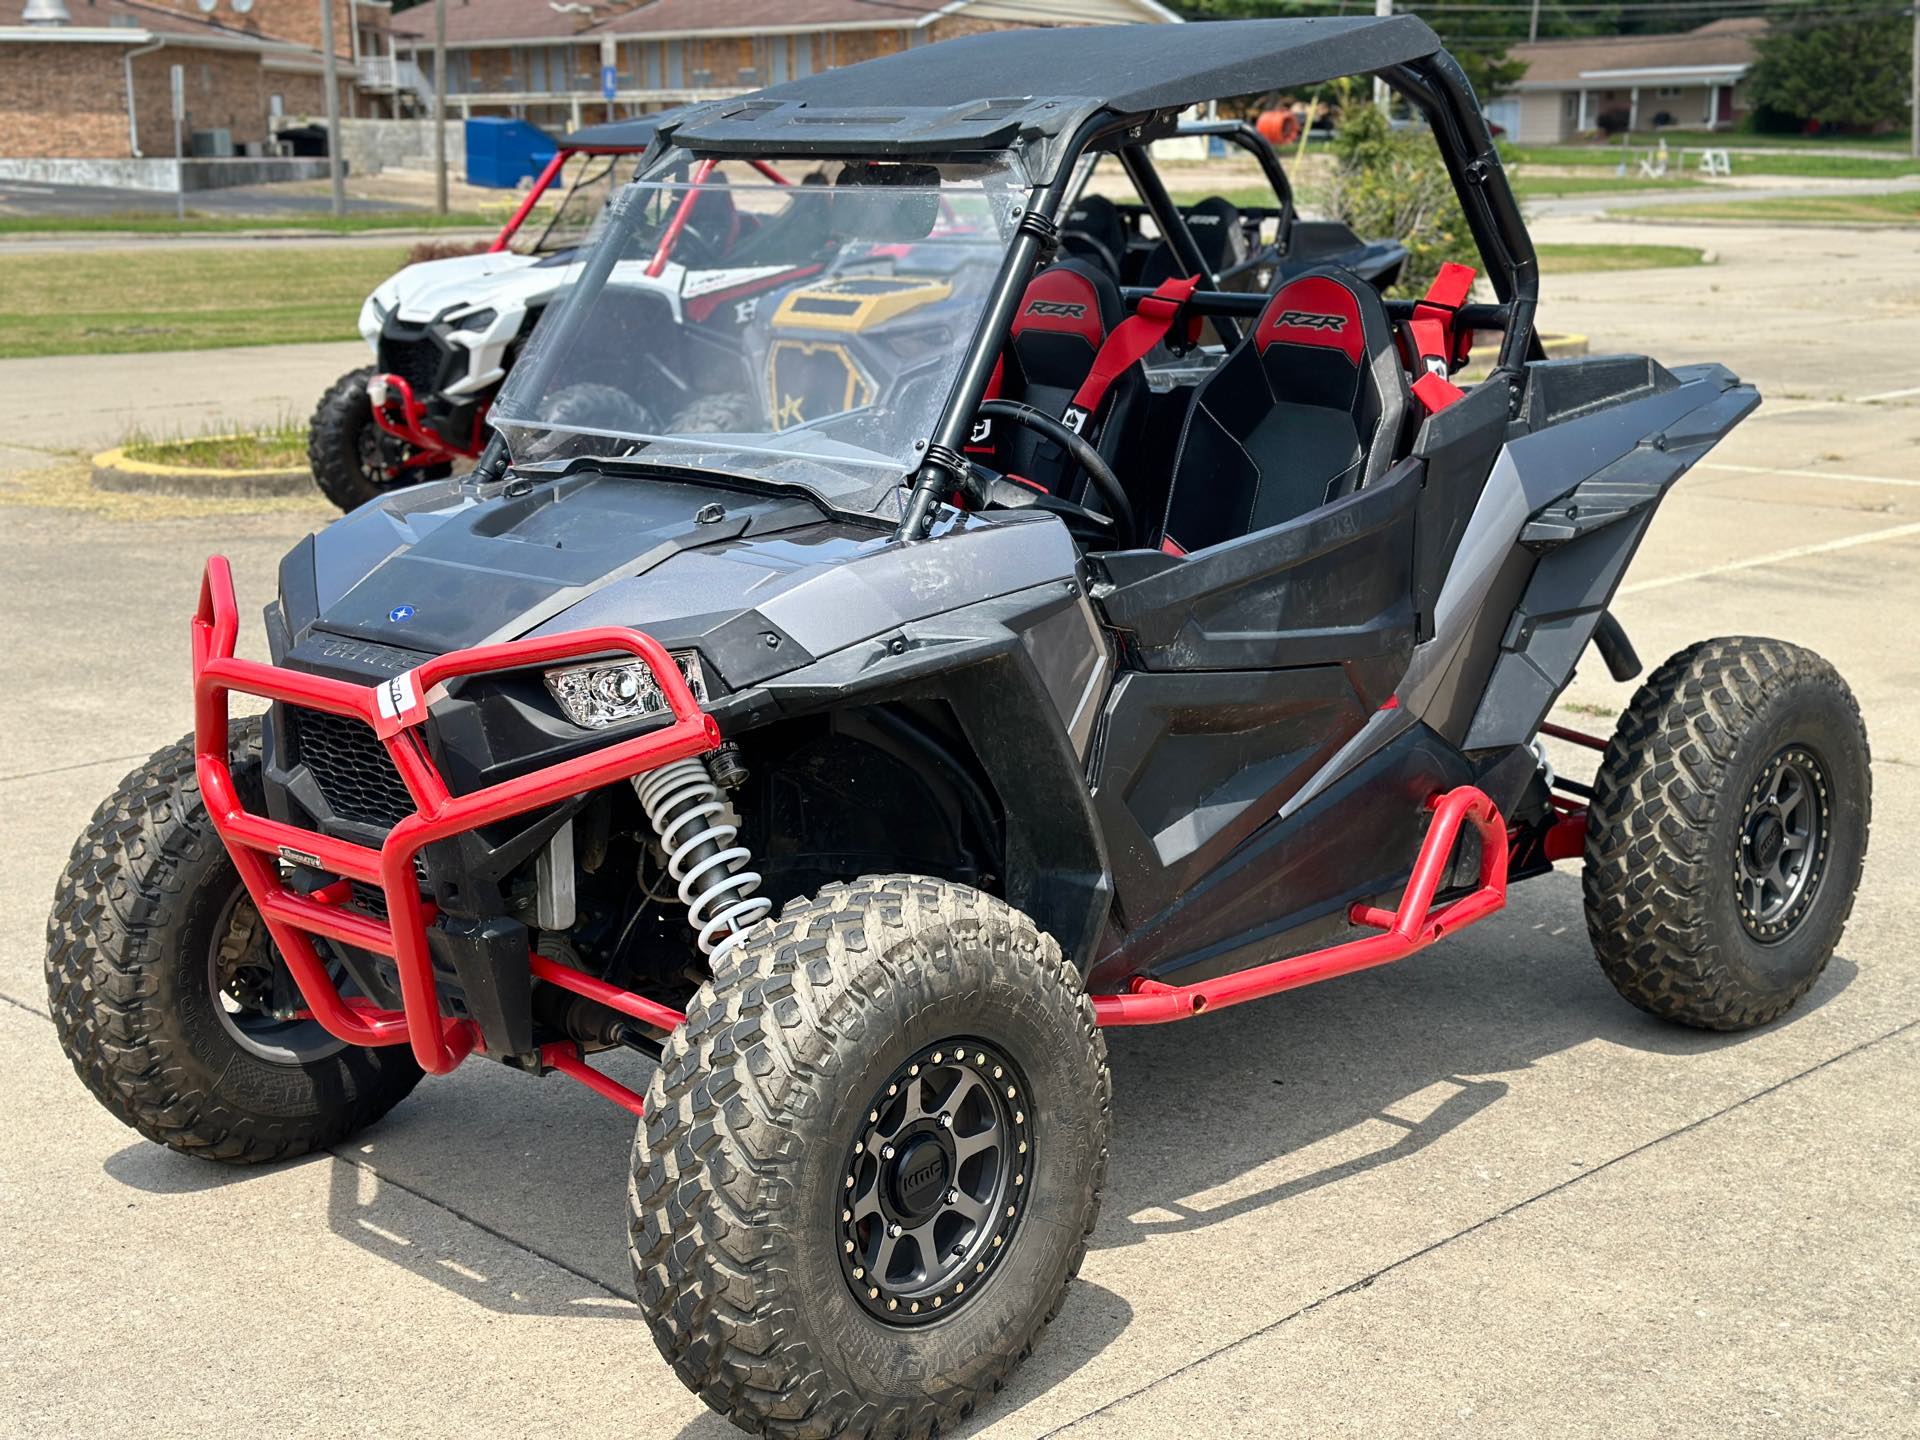
<svg viewBox="0 0 1920 1440"><path fill-rule="evenodd" d="M1836 958L1780 1025L1832 1000L1853 973ZM1686 1056L1743 1039L1667 1025L1620 1000L1592 956L1578 881L1544 877L1515 891L1501 916L1404 964L1196 1021L1108 1031L1116 1142L1094 1248L1200 1231L1405 1160L1486 1116L1540 1060L1578 1044ZM636 1089L651 1069L624 1056L603 1064ZM580 1087L536 1089L467 1066L422 1085L326 1162L328 1225L499 1313L632 1321L630 1144L628 1116ZM1294 1164L1258 1175L1281 1158ZM184 1194L284 1167L228 1169L142 1140L106 1169L140 1190ZM499 1246L449 1256L445 1244L409 1235L428 1196ZM578 1286L549 1273L516 1290L482 1273L478 1254L511 1260L501 1246L557 1265ZM1027 1371L1058 1380L1125 1329L1123 1300L1089 1284L1073 1294L1071 1323L1054 1327L1046 1361L1021 1371L1020 1390L1033 1382ZM1058 1369L1064 1354L1048 1354L1062 1332L1073 1334L1077 1356L1068 1371Z"/></svg>

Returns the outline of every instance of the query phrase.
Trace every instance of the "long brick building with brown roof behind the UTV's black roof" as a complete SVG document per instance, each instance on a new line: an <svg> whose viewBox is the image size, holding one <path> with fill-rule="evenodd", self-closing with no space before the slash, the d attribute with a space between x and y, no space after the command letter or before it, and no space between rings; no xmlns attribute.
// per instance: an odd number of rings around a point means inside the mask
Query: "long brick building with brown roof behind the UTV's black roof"
<svg viewBox="0 0 1920 1440"><path fill-rule="evenodd" d="M447 0L455 115L566 129L780 84L954 35L1016 25L1131 25L1179 17L1156 0ZM434 8L394 15L401 63L432 67Z"/></svg>

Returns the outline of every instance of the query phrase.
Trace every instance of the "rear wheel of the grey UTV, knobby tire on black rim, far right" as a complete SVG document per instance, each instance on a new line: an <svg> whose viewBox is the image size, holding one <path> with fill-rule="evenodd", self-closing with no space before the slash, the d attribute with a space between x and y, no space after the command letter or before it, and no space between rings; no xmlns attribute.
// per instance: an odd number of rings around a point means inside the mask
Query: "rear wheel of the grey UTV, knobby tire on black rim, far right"
<svg viewBox="0 0 1920 1440"><path fill-rule="evenodd" d="M1805 872L1782 852L1774 791ZM1586 925L1607 979L1684 1025L1776 1020L1839 945L1870 810L1866 730L1832 664L1778 639L1680 651L1620 716L1588 808ZM1799 885L1757 879L1763 860Z"/></svg>

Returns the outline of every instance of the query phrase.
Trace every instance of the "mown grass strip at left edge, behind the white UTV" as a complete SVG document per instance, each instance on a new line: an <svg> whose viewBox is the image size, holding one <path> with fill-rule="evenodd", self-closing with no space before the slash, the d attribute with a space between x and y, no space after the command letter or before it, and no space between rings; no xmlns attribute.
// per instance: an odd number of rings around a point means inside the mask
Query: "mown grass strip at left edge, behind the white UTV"
<svg viewBox="0 0 1920 1440"><path fill-rule="evenodd" d="M353 340L403 246L0 252L0 357Z"/></svg>

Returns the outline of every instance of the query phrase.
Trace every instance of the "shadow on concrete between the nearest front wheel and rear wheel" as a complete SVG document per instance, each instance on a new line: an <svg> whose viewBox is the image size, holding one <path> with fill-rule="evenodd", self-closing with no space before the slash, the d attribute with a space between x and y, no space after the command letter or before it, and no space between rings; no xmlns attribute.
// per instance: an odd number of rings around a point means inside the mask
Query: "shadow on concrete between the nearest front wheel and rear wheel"
<svg viewBox="0 0 1920 1440"><path fill-rule="evenodd" d="M1768 1029L1805 1020L1853 975L1836 956ZM1590 1041L1688 1056L1745 1039L1622 1000L1588 943L1578 879L1542 877L1501 916L1398 966L1108 1031L1117 1125L1094 1248L1198 1231L1405 1160L1498 1106L1521 1071ZM1300 1164L1246 1181L1283 1156Z"/></svg>

